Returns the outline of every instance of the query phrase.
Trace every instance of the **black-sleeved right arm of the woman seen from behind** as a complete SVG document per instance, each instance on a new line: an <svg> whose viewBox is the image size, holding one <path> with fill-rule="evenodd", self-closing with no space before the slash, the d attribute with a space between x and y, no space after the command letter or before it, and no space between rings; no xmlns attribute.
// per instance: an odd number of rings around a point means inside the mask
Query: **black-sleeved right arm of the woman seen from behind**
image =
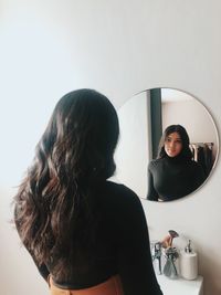
<svg viewBox="0 0 221 295"><path fill-rule="evenodd" d="M162 295L152 267L145 213L131 191L118 229L118 271L125 295Z"/></svg>

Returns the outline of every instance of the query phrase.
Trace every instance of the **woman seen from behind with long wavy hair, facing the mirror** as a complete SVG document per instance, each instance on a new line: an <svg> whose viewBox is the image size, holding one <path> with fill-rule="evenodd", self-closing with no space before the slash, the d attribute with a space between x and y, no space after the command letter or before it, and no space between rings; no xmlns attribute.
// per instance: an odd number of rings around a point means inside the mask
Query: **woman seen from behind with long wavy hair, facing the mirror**
<svg viewBox="0 0 221 295"><path fill-rule="evenodd" d="M117 139L117 114L104 95L64 95L15 196L21 241L53 295L162 294L140 201L107 181Z"/></svg>

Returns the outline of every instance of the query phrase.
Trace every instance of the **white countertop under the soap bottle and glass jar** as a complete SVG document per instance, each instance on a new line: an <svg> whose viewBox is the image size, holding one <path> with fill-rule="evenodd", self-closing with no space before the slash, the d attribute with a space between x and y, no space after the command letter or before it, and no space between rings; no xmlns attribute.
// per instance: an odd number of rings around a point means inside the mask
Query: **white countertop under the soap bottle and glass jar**
<svg viewBox="0 0 221 295"><path fill-rule="evenodd" d="M181 277L170 280L165 275L157 275L157 281L164 295L203 295L203 277L187 281Z"/></svg>

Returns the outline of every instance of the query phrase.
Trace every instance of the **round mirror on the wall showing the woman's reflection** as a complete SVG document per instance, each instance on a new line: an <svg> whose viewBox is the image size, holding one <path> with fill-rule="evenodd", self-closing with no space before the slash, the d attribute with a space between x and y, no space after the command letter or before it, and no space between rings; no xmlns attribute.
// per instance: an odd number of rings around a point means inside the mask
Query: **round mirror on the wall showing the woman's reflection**
<svg viewBox="0 0 221 295"><path fill-rule="evenodd" d="M192 95L147 89L127 101L118 117L115 179L140 198L177 200L202 187L211 175L218 131L208 109Z"/></svg>

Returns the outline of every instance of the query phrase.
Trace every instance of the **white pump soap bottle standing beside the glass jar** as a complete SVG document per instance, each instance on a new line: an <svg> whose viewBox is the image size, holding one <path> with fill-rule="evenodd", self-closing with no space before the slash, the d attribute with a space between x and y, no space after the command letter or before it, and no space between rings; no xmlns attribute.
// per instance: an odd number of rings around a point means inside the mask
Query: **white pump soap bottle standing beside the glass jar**
<svg viewBox="0 0 221 295"><path fill-rule="evenodd" d="M180 251L180 274L186 280L198 277L198 255L192 250L190 240L185 250Z"/></svg>

